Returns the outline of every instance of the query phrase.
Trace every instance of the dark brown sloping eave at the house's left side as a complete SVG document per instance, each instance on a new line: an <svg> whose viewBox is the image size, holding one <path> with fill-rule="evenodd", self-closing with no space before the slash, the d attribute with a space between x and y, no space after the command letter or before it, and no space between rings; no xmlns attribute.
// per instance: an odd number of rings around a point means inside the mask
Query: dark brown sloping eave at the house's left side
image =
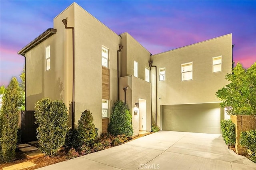
<svg viewBox="0 0 256 170"><path fill-rule="evenodd" d="M48 28L45 32L40 34L37 38L35 38L32 42L28 43L25 47L23 47L20 51L18 51L18 54L23 55L25 57L25 54L27 51L35 47L36 45L40 44L53 34L56 34L57 30L54 28Z"/></svg>

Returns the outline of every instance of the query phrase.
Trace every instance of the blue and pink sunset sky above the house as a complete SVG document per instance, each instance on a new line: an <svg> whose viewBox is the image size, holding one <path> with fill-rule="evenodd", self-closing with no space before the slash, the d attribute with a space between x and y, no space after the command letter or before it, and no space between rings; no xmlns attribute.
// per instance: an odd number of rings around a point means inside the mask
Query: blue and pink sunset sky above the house
<svg viewBox="0 0 256 170"><path fill-rule="evenodd" d="M0 85L22 72L17 52L53 27L74 1L0 1ZM116 34L128 32L152 54L232 33L233 60L256 62L256 1L75 1Z"/></svg>

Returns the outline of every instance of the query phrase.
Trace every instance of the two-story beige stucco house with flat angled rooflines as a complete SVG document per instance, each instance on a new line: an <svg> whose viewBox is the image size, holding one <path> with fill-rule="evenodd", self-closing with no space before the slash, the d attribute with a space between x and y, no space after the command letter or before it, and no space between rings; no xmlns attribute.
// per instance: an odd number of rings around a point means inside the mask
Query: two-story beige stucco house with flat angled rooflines
<svg viewBox="0 0 256 170"><path fill-rule="evenodd" d="M152 33L153 34L153 33ZM124 100L134 136L163 130L220 133L215 92L232 70L232 35L152 55L130 34L117 35L78 4L18 51L25 57L26 111L48 97L64 101L75 127L89 109L107 132L114 102Z"/></svg>

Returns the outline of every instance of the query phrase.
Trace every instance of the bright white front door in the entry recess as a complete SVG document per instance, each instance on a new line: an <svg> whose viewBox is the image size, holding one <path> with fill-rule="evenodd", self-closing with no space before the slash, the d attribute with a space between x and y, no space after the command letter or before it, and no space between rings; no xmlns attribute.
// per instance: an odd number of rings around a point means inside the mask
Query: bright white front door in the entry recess
<svg viewBox="0 0 256 170"><path fill-rule="evenodd" d="M140 113L140 130L146 130L146 100L139 99L139 113Z"/></svg>

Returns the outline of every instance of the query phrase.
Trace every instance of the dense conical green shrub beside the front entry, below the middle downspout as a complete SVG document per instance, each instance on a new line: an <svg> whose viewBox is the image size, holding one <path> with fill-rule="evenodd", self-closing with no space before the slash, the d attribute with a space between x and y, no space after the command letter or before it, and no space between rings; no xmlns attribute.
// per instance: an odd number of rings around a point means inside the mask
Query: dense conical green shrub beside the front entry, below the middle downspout
<svg viewBox="0 0 256 170"><path fill-rule="evenodd" d="M132 136L132 115L129 112L128 105L124 101L117 101L114 104L108 125L108 132L114 135L124 134L126 136Z"/></svg>

